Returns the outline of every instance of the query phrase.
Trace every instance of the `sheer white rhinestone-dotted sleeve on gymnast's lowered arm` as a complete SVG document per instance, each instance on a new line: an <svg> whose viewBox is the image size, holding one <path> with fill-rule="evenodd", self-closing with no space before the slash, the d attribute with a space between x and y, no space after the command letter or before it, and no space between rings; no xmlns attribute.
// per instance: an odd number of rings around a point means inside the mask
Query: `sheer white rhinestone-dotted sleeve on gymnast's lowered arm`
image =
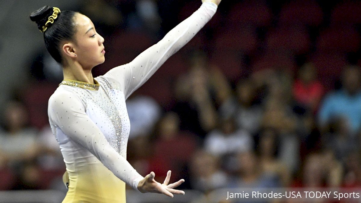
<svg viewBox="0 0 361 203"><path fill-rule="evenodd" d="M79 96L66 91L58 92L49 99L49 120L68 136L69 142L86 148L115 176L138 190L138 183L143 177L110 145L85 109Z"/></svg>

